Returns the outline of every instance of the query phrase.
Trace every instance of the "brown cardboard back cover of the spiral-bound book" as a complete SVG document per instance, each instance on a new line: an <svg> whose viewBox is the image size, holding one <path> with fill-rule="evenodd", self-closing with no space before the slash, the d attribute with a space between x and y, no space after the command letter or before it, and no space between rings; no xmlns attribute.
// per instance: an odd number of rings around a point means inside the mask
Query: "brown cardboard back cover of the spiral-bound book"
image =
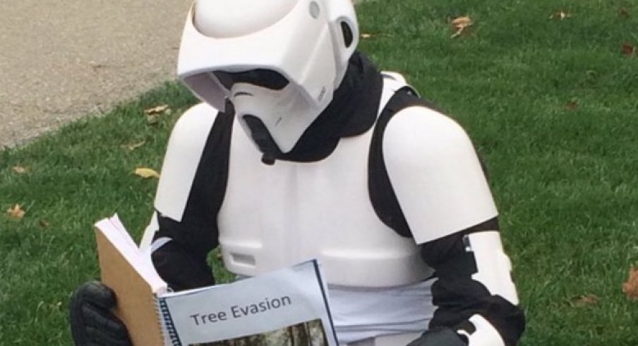
<svg viewBox="0 0 638 346"><path fill-rule="evenodd" d="M95 237L102 282L116 294L114 314L126 325L131 342L134 346L164 345L151 286L102 232L96 230Z"/></svg>

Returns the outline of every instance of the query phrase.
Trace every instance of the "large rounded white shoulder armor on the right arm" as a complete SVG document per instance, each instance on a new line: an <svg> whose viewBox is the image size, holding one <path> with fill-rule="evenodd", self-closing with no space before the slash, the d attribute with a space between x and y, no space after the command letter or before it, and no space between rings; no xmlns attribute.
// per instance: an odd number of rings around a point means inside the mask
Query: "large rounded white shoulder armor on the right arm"
<svg viewBox="0 0 638 346"><path fill-rule="evenodd" d="M467 133L433 109L413 106L395 114L383 136L383 157L417 244L498 214Z"/></svg>

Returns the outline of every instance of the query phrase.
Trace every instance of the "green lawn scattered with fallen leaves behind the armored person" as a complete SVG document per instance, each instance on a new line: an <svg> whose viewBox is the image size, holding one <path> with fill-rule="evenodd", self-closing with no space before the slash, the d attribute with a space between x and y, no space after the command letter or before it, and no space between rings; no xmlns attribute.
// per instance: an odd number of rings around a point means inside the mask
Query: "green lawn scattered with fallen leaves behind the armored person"
<svg viewBox="0 0 638 346"><path fill-rule="evenodd" d="M450 39L464 15L474 25ZM638 345L638 303L620 289L638 263L638 56L621 54L638 46L638 3L376 0L359 19L373 34L361 49L457 119L486 161L529 321L522 345ZM0 215L0 345L70 345L68 297L98 277L92 223L118 212L140 236L155 181L133 169L160 168L193 102L168 83L0 150L0 211L27 211ZM164 103L172 114L148 124L143 109ZM577 304L586 294L598 302Z"/></svg>

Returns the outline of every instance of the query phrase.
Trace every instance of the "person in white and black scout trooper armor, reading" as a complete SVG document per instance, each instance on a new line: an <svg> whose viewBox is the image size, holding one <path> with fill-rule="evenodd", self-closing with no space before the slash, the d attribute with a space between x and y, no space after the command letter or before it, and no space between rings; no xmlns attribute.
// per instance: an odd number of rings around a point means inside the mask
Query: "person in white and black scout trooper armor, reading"
<svg viewBox="0 0 638 346"><path fill-rule="evenodd" d="M323 265L340 345L513 346L524 315L465 131L356 50L351 0L198 0L176 123L142 247L174 290ZM76 345L130 345L88 282Z"/></svg>

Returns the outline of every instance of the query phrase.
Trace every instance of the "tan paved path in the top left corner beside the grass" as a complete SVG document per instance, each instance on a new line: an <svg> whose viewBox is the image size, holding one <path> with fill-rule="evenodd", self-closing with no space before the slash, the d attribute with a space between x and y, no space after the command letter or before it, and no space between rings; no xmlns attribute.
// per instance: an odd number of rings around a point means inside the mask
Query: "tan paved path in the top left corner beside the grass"
<svg viewBox="0 0 638 346"><path fill-rule="evenodd" d="M174 78L190 5L0 1L0 148Z"/></svg>

